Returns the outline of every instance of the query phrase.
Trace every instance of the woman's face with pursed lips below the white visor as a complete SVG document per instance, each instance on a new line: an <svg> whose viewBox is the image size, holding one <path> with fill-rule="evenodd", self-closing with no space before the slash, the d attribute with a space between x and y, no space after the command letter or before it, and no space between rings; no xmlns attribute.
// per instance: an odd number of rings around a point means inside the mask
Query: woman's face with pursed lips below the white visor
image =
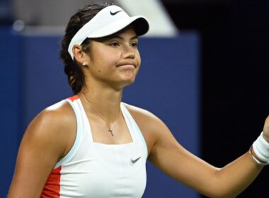
<svg viewBox="0 0 269 198"><path fill-rule="evenodd" d="M109 37L92 40L87 54L88 81L123 88L135 81L141 64L138 37L132 27ZM91 83L91 82L90 82Z"/></svg>

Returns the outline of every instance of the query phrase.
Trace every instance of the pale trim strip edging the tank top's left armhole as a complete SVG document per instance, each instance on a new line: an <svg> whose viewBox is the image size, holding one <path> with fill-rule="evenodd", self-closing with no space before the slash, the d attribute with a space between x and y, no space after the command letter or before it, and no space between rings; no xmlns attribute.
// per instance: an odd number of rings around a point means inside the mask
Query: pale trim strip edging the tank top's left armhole
<svg viewBox="0 0 269 198"><path fill-rule="evenodd" d="M81 137L82 137L82 124L81 124L81 117L79 115L79 112L77 112L76 107L74 106L74 103L71 100L67 99L67 102L69 102L69 104L71 105L76 115L76 139L70 151L67 153L66 156L64 156L64 158L62 158L60 161L56 163L55 168L59 168L59 166L63 165L64 163L67 163L67 161L69 161L71 158L74 157L74 155L76 154L76 151L79 149L79 145L80 145Z"/></svg>

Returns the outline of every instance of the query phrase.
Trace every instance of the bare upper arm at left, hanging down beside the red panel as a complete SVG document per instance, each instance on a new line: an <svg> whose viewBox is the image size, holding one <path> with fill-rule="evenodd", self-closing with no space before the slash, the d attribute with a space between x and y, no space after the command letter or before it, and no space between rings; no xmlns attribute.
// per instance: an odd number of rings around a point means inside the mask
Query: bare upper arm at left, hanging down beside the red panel
<svg viewBox="0 0 269 198"><path fill-rule="evenodd" d="M69 138L63 138L63 134L74 127L67 127L64 120L67 117L62 111L49 109L29 124L18 151L8 197L40 197L47 177L67 152Z"/></svg>

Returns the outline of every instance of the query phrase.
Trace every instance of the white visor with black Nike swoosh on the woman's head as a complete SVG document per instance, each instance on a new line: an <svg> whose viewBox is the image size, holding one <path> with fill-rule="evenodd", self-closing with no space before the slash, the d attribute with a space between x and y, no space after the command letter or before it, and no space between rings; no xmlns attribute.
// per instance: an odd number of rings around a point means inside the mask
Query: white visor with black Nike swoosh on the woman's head
<svg viewBox="0 0 269 198"><path fill-rule="evenodd" d="M137 36L144 35L149 30L149 23L144 16L128 16L119 6L108 6L99 11L71 39L68 52L74 59L74 45L81 45L86 38L98 38L113 35L132 23Z"/></svg>

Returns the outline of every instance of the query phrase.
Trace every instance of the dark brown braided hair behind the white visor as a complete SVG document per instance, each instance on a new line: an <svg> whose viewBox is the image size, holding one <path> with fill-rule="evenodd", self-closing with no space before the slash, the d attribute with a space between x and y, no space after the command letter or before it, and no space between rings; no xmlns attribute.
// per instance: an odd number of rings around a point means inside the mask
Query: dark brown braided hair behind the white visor
<svg viewBox="0 0 269 198"><path fill-rule="evenodd" d="M65 30L65 35L62 38L62 48L60 50L60 57L64 62L64 72L67 74L68 83L74 94L81 91L82 86L84 86L85 78L81 66L76 62L76 59L71 59L68 52L68 46L71 42L72 37L79 31L82 26L84 26L88 21L91 20L96 13L101 11L103 8L110 6L112 4L91 4L84 8L79 9L74 16L71 16L67 28ZM90 40L86 39L81 44L82 50L84 52L90 52Z"/></svg>

